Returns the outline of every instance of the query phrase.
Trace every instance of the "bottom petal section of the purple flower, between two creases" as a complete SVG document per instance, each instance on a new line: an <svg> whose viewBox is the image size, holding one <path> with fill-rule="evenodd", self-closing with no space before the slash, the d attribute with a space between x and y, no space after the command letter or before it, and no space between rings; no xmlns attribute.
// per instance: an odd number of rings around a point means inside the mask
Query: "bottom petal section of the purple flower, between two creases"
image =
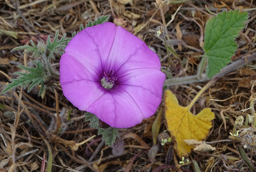
<svg viewBox="0 0 256 172"><path fill-rule="evenodd" d="M116 128L132 127L144 119L140 107L126 92L108 92L92 104L88 111L97 114L100 120Z"/></svg>

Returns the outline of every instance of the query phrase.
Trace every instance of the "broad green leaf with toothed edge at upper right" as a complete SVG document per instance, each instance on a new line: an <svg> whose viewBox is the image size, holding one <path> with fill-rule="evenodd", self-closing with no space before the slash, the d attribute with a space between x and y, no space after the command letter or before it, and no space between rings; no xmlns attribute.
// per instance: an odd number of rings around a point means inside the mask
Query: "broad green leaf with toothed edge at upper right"
<svg viewBox="0 0 256 172"><path fill-rule="evenodd" d="M212 78L231 61L238 45L234 39L244 28L248 13L241 10L224 11L210 18L204 32L204 59L208 59L206 76Z"/></svg>

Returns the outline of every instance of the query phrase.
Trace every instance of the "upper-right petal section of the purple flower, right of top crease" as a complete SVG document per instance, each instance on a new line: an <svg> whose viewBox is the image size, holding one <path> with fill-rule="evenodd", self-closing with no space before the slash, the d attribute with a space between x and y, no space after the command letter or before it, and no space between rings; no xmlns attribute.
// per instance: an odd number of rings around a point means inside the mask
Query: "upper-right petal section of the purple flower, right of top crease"
<svg viewBox="0 0 256 172"><path fill-rule="evenodd" d="M159 57L138 37L118 26L105 70L125 72L133 68L157 68Z"/></svg>

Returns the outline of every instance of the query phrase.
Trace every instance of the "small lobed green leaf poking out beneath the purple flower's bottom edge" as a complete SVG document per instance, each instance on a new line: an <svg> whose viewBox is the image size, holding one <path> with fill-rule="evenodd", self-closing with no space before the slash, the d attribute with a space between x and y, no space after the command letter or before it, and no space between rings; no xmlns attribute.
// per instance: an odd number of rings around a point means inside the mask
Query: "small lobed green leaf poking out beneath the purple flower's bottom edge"
<svg viewBox="0 0 256 172"><path fill-rule="evenodd" d="M119 137L118 130L115 127L101 128L99 125L99 119L93 113L86 112L85 121L90 121L90 127L98 129L98 135L102 135L102 139L106 141L106 145L113 145L116 138Z"/></svg>

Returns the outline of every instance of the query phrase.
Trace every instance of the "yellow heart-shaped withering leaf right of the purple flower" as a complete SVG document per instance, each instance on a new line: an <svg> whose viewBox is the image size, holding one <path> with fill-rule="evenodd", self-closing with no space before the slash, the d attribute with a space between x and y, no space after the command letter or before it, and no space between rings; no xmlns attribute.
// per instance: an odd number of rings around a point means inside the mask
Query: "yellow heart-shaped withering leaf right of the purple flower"
<svg viewBox="0 0 256 172"><path fill-rule="evenodd" d="M165 117L168 131L175 137L177 142L177 151L180 157L187 156L194 147L186 145L183 140L196 139L201 141L212 127L211 120L215 118L210 108L203 109L198 115L193 115L190 108L178 105L176 96L170 91L165 92L164 104L166 106Z"/></svg>

